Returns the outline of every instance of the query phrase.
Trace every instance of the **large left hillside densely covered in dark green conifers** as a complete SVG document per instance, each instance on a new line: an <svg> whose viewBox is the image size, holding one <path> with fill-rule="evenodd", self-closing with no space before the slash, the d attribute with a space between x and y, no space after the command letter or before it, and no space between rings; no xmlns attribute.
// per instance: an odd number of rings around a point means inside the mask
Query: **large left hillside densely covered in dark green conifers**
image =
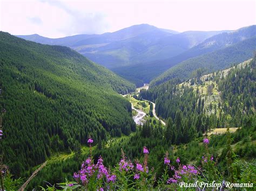
<svg viewBox="0 0 256 191"><path fill-rule="evenodd" d="M4 164L15 176L56 151L77 150L89 136L129 135L134 85L62 46L0 32Z"/></svg>

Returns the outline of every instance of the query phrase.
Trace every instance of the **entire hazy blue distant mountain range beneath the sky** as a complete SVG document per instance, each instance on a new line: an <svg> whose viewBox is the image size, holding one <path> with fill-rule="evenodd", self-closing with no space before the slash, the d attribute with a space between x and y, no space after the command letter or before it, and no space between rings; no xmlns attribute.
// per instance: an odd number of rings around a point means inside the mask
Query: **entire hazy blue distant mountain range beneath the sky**
<svg viewBox="0 0 256 191"><path fill-rule="evenodd" d="M235 31L177 32L141 24L112 33L79 34L57 39L38 34L18 37L41 44L71 47L140 86L184 60L251 38L255 31L255 25Z"/></svg>

